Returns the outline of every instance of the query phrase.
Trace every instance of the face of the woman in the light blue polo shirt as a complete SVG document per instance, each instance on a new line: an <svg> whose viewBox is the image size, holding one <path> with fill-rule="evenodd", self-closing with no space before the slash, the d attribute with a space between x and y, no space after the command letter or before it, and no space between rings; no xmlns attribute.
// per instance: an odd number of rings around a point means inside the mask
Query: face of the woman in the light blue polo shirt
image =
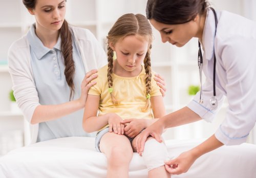
<svg viewBox="0 0 256 178"><path fill-rule="evenodd" d="M35 9L29 9L35 15L37 28L50 31L59 30L66 14L66 1L37 0Z"/></svg>

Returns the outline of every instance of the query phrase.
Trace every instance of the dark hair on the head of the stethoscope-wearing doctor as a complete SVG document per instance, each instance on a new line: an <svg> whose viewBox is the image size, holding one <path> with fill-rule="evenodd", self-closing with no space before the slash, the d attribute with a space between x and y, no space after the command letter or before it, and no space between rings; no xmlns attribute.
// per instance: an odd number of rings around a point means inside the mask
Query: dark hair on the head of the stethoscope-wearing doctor
<svg viewBox="0 0 256 178"><path fill-rule="evenodd" d="M184 24L203 14L207 7L207 0L148 0L146 17L162 24Z"/></svg>

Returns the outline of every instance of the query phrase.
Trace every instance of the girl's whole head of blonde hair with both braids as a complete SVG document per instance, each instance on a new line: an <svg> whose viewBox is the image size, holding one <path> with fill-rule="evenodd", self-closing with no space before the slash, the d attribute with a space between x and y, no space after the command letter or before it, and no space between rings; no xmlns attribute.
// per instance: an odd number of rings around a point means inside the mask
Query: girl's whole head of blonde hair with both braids
<svg viewBox="0 0 256 178"><path fill-rule="evenodd" d="M152 48L152 28L148 20L144 15L141 14L124 14L121 17L119 17L114 24L114 26L111 28L111 30L108 33L108 36L106 37L108 39L108 82L109 82L109 88L112 88L113 86L113 56L114 51L110 47L110 43L112 46L115 46L116 42L122 40L123 38L127 36L142 36L145 38L145 40L148 40L148 49L147 53L144 58L144 68L145 68L145 84L146 84L146 105L144 108L142 108L142 111L145 112L149 108L151 108L150 103L150 93L151 93L151 48ZM115 91L114 91L115 92ZM113 92L110 92L111 99L114 105L118 103L116 98L114 97Z"/></svg>

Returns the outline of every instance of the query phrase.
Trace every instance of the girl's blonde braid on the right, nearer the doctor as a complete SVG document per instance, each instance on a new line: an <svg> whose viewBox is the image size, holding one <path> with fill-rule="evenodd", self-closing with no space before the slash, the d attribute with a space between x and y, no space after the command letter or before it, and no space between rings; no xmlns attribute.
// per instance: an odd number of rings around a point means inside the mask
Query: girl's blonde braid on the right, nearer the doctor
<svg viewBox="0 0 256 178"><path fill-rule="evenodd" d="M142 109L143 112L146 112L148 109L151 108L151 102L150 102L150 93L151 93L151 48L152 45L150 45L150 48L148 48L146 56L144 58L144 68L145 68L145 73L146 73L146 105Z"/></svg>

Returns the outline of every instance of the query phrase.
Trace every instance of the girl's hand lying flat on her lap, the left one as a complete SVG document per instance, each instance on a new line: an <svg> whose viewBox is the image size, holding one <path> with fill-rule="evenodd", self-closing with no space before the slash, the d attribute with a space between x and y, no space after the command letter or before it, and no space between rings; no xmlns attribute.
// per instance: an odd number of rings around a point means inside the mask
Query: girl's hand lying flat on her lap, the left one
<svg viewBox="0 0 256 178"><path fill-rule="evenodd" d="M118 134L118 135L123 135L124 133L124 124L121 123L122 118L118 116L117 114L112 113L109 118L109 131Z"/></svg>

